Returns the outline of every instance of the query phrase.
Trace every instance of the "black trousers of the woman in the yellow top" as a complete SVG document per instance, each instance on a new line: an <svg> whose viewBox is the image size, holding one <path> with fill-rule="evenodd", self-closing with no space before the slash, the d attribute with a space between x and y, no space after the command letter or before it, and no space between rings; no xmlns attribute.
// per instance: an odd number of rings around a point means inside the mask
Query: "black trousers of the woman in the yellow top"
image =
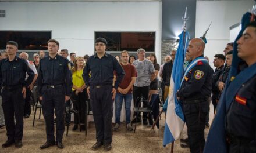
<svg viewBox="0 0 256 153"><path fill-rule="evenodd" d="M74 123L79 123L79 117L80 117L80 123L84 124L85 121L85 115L86 115L86 100L87 100L87 93L86 89L83 90L83 92L78 93L76 95L76 91L72 92L71 100L73 102L73 108L74 110L79 111L79 114L74 113Z"/></svg>

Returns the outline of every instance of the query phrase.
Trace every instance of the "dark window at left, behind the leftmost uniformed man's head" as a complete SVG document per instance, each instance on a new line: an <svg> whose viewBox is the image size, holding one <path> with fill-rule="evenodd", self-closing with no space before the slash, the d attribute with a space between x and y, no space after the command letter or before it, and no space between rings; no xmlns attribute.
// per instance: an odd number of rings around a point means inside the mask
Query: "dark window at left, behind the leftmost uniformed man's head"
<svg viewBox="0 0 256 153"><path fill-rule="evenodd" d="M6 49L6 42L15 41L19 50L47 50L51 31L0 31L0 49Z"/></svg>

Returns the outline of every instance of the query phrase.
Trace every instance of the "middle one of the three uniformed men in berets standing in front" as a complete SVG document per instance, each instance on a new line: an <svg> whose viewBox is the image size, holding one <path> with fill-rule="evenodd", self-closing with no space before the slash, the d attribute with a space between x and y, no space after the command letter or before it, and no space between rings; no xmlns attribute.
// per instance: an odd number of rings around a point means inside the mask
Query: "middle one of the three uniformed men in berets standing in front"
<svg viewBox="0 0 256 153"><path fill-rule="evenodd" d="M70 99L72 92L72 74L69 61L58 55L59 42L50 39L48 42L49 56L40 60L38 75L38 94L42 100L42 114L46 124L47 141L41 149L51 145L63 148L62 137L65 130L65 101ZM54 138L54 109L56 114L56 141Z"/></svg>

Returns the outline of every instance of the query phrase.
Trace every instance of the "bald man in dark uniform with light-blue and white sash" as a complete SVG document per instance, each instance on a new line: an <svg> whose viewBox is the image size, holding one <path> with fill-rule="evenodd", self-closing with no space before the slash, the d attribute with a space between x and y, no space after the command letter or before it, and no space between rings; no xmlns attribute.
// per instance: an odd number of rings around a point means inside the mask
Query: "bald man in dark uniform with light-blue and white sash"
<svg viewBox="0 0 256 153"><path fill-rule="evenodd" d="M186 68L183 82L177 91L177 99L182 103L189 136L190 152L204 150L205 119L209 111L211 96L212 70L204 58L205 43L200 38L194 38L187 48L191 64Z"/></svg>

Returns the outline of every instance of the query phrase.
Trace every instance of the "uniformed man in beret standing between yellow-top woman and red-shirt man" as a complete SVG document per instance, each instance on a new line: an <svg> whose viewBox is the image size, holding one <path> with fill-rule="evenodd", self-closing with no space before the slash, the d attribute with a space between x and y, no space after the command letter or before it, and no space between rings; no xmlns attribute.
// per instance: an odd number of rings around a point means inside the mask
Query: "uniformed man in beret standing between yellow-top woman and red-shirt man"
<svg viewBox="0 0 256 153"><path fill-rule="evenodd" d="M112 116L113 99L119 83L125 76L122 66L110 54L106 54L106 39L97 38L95 41L95 55L91 56L83 70L83 79L86 82L87 93L90 95L96 128L97 143L92 150L98 150L104 145L104 150L111 150L112 143ZM117 78L113 86L113 71ZM91 77L89 74L91 72Z"/></svg>

